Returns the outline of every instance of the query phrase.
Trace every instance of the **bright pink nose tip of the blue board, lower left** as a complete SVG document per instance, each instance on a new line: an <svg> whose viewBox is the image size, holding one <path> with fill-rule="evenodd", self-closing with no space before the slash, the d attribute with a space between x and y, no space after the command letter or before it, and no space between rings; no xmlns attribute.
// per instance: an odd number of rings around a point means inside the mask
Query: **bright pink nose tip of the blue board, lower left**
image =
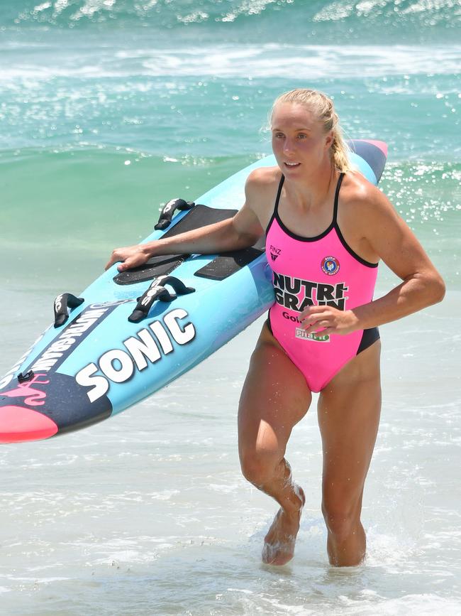
<svg viewBox="0 0 461 616"><path fill-rule="evenodd" d="M57 433L52 419L24 406L0 407L0 443L40 441Z"/></svg>

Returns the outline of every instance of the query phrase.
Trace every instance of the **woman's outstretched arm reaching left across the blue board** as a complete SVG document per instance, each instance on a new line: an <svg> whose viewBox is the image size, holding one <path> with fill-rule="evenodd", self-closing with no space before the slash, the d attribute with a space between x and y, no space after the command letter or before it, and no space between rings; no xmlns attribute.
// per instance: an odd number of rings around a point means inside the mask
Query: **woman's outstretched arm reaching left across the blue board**
<svg viewBox="0 0 461 616"><path fill-rule="evenodd" d="M248 202L249 196L255 190L254 179L250 178L245 185L245 205L233 218L206 225L200 229L192 229L173 237L116 248L105 269L109 269L117 261L122 261L117 269L125 271L143 265L152 256L160 254L215 254L252 246L262 235L263 230Z"/></svg>

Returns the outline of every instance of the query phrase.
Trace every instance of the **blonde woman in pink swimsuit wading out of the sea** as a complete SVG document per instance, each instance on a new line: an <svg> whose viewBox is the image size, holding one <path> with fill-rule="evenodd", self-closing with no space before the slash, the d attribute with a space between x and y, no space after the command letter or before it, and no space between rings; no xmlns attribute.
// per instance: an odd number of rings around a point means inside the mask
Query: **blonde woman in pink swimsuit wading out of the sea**
<svg viewBox="0 0 461 616"><path fill-rule="evenodd" d="M320 391L328 557L333 566L356 566L365 558L360 512L381 408L377 326L441 301L445 286L389 200L351 168L331 99L286 92L274 102L271 129L277 166L250 173L233 219L116 249L106 268L249 247L266 230L277 301L238 414L243 475L280 505L262 560L283 565L294 555L304 492L284 453L311 392ZM373 300L379 259L402 282Z"/></svg>

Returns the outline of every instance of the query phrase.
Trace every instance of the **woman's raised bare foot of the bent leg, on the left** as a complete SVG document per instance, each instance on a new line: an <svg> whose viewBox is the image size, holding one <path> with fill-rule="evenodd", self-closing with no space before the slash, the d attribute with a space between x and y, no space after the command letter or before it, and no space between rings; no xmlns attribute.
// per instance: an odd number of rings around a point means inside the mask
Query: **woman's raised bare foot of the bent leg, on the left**
<svg viewBox="0 0 461 616"><path fill-rule="evenodd" d="M299 486L294 485L294 491L299 497L299 509L287 512L286 509L280 507L265 536L262 562L267 565L285 565L294 556L294 544L305 501L304 492Z"/></svg>

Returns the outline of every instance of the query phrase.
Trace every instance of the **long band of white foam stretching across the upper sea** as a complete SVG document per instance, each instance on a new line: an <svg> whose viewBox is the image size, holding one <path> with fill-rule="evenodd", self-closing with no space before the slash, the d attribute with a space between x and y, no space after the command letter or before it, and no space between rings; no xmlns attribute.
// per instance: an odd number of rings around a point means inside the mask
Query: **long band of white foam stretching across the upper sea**
<svg viewBox="0 0 461 616"><path fill-rule="evenodd" d="M377 77L383 75L456 74L461 46L450 45L213 45L204 48L140 48L100 50L99 58L87 49L78 55L59 58L37 48L35 62L10 65L0 73L0 82L17 85L18 80L34 83L59 77L94 80L108 77L284 77L328 79ZM143 84L130 85L142 87Z"/></svg>

